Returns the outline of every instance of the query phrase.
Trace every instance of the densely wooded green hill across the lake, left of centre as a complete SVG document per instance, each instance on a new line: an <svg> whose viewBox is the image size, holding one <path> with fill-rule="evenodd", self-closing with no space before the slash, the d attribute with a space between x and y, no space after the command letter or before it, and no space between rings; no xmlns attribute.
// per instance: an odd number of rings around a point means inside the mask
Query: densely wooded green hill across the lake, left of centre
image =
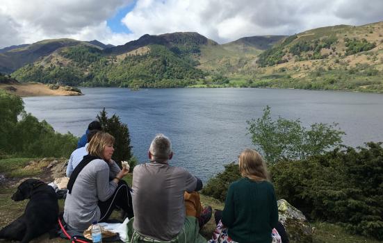
<svg viewBox="0 0 383 243"><path fill-rule="evenodd" d="M77 44L60 48L18 69L13 76L19 81L65 85L185 86L204 78L194 56L201 47L215 45L198 33L143 35L104 50Z"/></svg>

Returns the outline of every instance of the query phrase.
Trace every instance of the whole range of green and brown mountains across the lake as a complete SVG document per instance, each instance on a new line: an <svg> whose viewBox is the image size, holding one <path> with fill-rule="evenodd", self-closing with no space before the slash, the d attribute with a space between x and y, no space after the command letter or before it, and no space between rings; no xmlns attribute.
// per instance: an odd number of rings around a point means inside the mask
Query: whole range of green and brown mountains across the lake
<svg viewBox="0 0 383 243"><path fill-rule="evenodd" d="M383 22L377 22L327 26L290 36L243 37L226 44L192 32L142 35L108 49L72 40L75 43L50 51L29 51L34 59L22 56L26 65L12 76L19 81L89 86L383 92L382 36ZM10 69L12 63L1 58L37 44L0 53L0 69Z"/></svg>

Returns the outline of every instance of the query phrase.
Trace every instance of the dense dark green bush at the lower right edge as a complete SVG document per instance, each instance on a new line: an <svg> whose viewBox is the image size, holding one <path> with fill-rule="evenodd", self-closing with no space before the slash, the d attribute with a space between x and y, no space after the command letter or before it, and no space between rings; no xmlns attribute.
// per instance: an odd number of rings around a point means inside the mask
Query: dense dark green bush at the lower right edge
<svg viewBox="0 0 383 243"><path fill-rule="evenodd" d="M383 239L383 148L369 142L270 167L279 198L312 219L341 222L350 233Z"/></svg>

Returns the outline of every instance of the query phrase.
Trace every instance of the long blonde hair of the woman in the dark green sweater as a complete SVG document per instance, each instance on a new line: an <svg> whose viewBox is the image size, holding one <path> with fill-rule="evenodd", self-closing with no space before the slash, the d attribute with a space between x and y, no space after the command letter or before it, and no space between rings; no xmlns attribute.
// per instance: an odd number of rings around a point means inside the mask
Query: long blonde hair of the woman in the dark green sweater
<svg viewBox="0 0 383 243"><path fill-rule="evenodd" d="M268 169L262 156L253 149L245 149L238 157L241 176L253 181L269 181Z"/></svg>

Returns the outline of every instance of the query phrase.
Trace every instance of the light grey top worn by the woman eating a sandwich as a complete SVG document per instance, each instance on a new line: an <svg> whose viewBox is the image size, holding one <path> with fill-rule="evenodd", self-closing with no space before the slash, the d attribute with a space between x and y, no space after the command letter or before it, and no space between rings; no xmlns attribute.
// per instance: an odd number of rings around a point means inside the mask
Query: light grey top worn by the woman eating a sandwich
<svg viewBox="0 0 383 243"><path fill-rule="evenodd" d="M108 200L117 188L117 183L109 181L120 168L113 161L108 165L104 160L92 160L86 165L67 194L64 207L64 220L77 231L85 231L93 221L100 220L99 201Z"/></svg>

